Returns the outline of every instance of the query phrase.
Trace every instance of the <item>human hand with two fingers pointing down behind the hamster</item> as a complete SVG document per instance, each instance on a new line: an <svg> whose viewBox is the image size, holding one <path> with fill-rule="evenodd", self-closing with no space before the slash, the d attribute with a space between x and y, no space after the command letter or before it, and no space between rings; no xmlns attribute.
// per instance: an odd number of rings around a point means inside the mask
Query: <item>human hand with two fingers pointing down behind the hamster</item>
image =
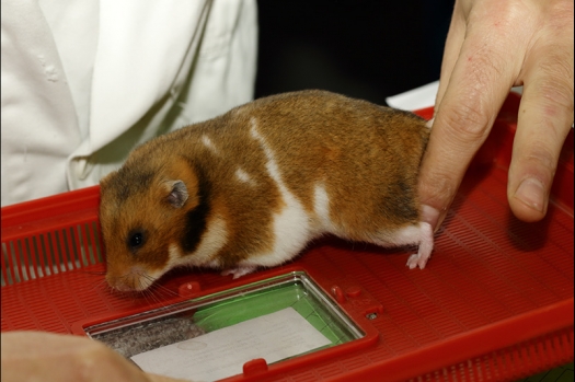
<svg viewBox="0 0 575 382"><path fill-rule="evenodd" d="M507 198L545 216L573 124L573 0L457 0L429 144L419 175L423 220L437 230L511 86L524 85Z"/></svg>

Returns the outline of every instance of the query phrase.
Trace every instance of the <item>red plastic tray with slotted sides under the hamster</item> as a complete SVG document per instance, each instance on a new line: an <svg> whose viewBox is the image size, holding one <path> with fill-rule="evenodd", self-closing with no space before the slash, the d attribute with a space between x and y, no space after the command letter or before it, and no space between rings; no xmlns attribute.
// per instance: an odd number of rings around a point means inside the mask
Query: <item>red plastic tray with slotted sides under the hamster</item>
<svg viewBox="0 0 575 382"><path fill-rule="evenodd" d="M180 270L161 280L173 292L120 297L103 281L96 186L2 208L1 329L78 333L79 323L306 270L376 340L268 368L246 364L229 381L514 381L567 363L574 352L573 131L548 217L518 221L506 198L518 102L515 94L506 101L425 270L405 267L411 250L327 238L286 266L239 280ZM371 312L377 319L366 317Z"/></svg>

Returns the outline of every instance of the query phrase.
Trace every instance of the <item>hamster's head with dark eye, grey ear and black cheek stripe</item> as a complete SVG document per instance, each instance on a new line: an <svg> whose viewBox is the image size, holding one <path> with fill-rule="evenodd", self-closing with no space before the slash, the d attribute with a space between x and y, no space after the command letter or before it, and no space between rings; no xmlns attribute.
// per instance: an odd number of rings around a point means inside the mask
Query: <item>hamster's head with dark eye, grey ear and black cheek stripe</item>
<svg viewBox="0 0 575 382"><path fill-rule="evenodd" d="M186 161L134 164L101 181L106 281L119 291L145 290L180 265L200 241L209 212L202 176Z"/></svg>

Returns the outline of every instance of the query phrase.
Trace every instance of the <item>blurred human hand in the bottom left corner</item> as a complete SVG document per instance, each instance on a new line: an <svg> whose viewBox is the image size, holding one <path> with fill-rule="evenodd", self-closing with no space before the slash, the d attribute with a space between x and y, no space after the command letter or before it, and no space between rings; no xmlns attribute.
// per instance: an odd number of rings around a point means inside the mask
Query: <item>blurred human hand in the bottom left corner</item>
<svg viewBox="0 0 575 382"><path fill-rule="evenodd" d="M73 335L5 332L1 335L2 382L175 382L147 374L102 343Z"/></svg>

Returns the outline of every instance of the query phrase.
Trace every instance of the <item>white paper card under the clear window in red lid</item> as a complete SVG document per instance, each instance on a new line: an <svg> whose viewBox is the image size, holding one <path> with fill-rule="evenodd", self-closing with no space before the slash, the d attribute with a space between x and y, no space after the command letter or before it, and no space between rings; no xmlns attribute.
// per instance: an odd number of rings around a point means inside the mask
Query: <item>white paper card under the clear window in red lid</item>
<svg viewBox="0 0 575 382"><path fill-rule="evenodd" d="M216 381L242 373L243 363L267 363L331 342L294 308L228 326L131 357L143 371L193 381Z"/></svg>

